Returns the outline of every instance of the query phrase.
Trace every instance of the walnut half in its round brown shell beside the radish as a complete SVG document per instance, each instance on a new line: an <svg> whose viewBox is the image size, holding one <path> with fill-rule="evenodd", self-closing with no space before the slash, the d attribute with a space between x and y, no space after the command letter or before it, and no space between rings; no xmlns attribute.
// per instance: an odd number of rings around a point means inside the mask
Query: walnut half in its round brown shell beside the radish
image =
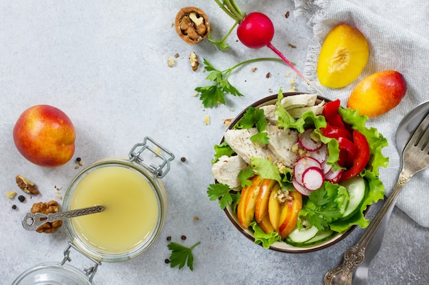
<svg viewBox="0 0 429 285"><path fill-rule="evenodd" d="M210 33L210 21L206 13L196 7L182 8L175 18L177 35L187 44L198 44Z"/></svg>

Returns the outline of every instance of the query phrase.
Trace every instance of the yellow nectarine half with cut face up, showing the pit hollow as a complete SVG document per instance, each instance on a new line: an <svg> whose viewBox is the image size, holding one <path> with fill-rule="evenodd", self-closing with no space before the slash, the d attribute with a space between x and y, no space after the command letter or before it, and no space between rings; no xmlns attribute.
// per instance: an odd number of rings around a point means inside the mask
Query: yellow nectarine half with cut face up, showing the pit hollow
<svg viewBox="0 0 429 285"><path fill-rule="evenodd" d="M336 25L326 36L317 62L321 85L344 87L358 78L369 57L368 42L356 27Z"/></svg>

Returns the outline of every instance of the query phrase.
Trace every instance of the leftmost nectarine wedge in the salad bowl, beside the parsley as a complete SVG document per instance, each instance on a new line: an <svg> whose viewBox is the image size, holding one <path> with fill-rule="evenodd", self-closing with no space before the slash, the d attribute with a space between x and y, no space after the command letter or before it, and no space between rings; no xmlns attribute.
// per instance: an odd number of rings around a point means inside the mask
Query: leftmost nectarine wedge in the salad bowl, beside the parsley
<svg viewBox="0 0 429 285"><path fill-rule="evenodd" d="M260 176L252 179L252 185L246 185L241 190L241 198L237 205L237 218L243 228L249 228L250 222L254 218L256 208L256 198L259 193Z"/></svg>

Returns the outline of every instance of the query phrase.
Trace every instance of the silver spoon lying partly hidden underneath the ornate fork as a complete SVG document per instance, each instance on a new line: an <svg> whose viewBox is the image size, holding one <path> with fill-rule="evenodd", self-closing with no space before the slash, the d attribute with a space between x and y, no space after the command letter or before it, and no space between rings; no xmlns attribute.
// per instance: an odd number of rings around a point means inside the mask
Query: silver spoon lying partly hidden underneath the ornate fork
<svg viewBox="0 0 429 285"><path fill-rule="evenodd" d="M399 154L402 154L406 143L413 135L416 130L419 122L423 120L426 113L429 112L429 101L422 103L421 105L415 107L413 111L410 111L406 116L401 120L399 127L396 131L396 148ZM391 210L384 216L384 219L380 223L380 226L374 232L374 235L365 249L365 259L362 264L360 264L353 272L352 284L353 285L366 285L368 282L368 267L373 258L378 254L380 247L382 245L382 239L384 237L384 231L386 230L389 217L391 215Z"/></svg>

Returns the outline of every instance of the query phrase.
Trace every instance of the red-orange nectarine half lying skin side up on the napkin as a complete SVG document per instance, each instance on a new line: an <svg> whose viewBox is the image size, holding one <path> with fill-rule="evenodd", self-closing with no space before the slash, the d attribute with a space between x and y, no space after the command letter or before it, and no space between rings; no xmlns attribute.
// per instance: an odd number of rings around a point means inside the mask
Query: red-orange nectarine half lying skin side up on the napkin
<svg viewBox="0 0 429 285"><path fill-rule="evenodd" d="M357 109L360 115L380 116L396 107L405 92L406 82L400 72L385 70L373 73L354 87L347 107Z"/></svg>

